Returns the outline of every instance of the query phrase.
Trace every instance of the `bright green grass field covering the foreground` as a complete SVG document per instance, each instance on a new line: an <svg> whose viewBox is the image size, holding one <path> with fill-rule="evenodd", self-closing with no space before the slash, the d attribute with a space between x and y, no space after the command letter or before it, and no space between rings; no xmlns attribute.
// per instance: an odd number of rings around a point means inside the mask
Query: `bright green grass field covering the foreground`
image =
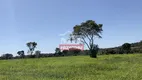
<svg viewBox="0 0 142 80"><path fill-rule="evenodd" d="M142 80L142 54L1 60L0 80Z"/></svg>

